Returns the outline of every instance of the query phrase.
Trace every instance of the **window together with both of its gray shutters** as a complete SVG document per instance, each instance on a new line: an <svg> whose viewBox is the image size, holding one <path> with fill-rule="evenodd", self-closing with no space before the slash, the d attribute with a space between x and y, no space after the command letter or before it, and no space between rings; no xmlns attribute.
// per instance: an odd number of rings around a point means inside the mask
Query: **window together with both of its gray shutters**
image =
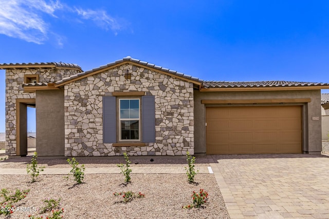
<svg viewBox="0 0 329 219"><path fill-rule="evenodd" d="M155 143L155 97L122 96L103 96L103 143Z"/></svg>

